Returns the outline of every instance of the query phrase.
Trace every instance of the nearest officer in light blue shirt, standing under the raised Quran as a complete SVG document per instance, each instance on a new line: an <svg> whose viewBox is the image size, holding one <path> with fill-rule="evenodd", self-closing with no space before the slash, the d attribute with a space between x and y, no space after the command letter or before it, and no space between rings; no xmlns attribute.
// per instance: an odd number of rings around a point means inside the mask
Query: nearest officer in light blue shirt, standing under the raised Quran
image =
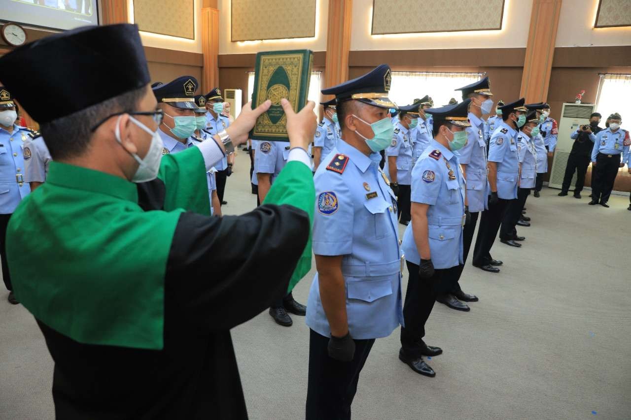
<svg viewBox="0 0 631 420"><path fill-rule="evenodd" d="M396 198L379 168L392 141L390 67L322 91L338 101L342 138L315 172L307 420L350 419L375 339L403 322Z"/></svg>

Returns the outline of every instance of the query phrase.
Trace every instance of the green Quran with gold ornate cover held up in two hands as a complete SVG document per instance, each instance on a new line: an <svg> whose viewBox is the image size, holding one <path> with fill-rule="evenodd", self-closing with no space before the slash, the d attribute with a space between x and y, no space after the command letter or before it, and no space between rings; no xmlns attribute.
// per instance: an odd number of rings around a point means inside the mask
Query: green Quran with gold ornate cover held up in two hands
<svg viewBox="0 0 631 420"><path fill-rule="evenodd" d="M266 100L272 105L264 112L250 132L256 140L289 141L287 117L280 105L286 98L295 112L307 103L313 52L311 50L270 51L256 54L252 108Z"/></svg>

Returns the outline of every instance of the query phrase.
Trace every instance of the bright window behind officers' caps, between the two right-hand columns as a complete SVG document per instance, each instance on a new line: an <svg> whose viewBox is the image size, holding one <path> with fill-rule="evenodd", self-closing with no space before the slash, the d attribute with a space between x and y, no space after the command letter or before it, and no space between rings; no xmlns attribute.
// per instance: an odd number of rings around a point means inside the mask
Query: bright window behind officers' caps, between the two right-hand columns
<svg viewBox="0 0 631 420"><path fill-rule="evenodd" d="M470 85L481 79L480 73L392 72L388 97L397 105L410 105L415 98L430 95L435 107L447 105L451 98L462 101L456 88Z"/></svg>

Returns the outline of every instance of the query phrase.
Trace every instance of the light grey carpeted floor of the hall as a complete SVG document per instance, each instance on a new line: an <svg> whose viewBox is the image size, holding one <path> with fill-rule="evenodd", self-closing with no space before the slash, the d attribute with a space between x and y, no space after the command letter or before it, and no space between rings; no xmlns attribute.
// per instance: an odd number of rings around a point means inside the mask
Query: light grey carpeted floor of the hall
<svg viewBox="0 0 631 420"><path fill-rule="evenodd" d="M256 206L249 160L237 156L225 214ZM362 371L355 419L630 419L631 301L628 197L587 206L545 188L528 198L533 226L520 249L500 242L500 274L464 270L471 312L439 303L427 342L444 354L435 378L399 361L399 332L379 339ZM403 226L401 233L403 233ZM315 264L313 265L315 268ZM306 303L312 274L295 289ZM404 273L405 288L407 273ZM252 273L256 281L256 273ZM304 418L309 330L274 324L267 312L233 329L251 419ZM0 299L0 418L54 416L52 360L33 318Z"/></svg>

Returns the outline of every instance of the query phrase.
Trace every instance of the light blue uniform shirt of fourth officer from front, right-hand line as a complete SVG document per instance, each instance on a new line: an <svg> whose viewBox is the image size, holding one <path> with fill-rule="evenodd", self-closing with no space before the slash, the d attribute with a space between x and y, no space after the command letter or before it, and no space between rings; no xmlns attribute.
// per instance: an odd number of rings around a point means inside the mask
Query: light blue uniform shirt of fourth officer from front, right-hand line
<svg viewBox="0 0 631 420"><path fill-rule="evenodd" d="M517 131L502 121L488 142L488 161L497 163L497 195L505 200L517 198L519 155L516 137Z"/></svg>

